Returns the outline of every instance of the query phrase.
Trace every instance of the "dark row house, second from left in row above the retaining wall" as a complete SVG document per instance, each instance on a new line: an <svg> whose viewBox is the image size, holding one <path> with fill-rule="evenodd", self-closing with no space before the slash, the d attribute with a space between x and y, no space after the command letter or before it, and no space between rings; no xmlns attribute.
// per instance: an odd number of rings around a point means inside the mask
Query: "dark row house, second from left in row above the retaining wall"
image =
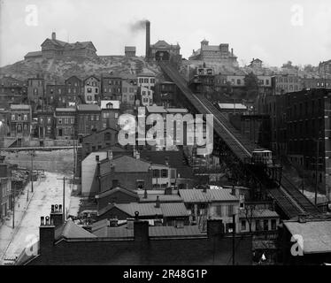
<svg viewBox="0 0 331 283"><path fill-rule="evenodd" d="M40 139L54 138L54 111L36 111L37 136Z"/></svg>

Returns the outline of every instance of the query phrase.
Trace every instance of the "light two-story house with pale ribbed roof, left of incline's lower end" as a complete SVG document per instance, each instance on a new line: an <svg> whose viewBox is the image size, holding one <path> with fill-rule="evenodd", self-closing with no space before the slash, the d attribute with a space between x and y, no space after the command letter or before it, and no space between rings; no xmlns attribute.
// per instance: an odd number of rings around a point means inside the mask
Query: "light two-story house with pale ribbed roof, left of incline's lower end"
<svg viewBox="0 0 331 283"><path fill-rule="evenodd" d="M243 202L236 188L219 189L180 189L179 195L190 212L192 221L202 223L205 228L205 219L222 219L226 233L233 228L235 215L235 231L240 231L239 208Z"/></svg>

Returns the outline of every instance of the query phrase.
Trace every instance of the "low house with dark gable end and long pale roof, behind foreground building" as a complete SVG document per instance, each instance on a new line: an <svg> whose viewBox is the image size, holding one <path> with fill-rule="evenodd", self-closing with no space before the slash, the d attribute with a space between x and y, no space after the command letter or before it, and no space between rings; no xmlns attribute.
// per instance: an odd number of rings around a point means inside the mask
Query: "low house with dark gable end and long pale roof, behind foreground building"
<svg viewBox="0 0 331 283"><path fill-rule="evenodd" d="M153 224L160 221L163 226L189 225L189 211L184 203L159 203L158 199L156 203L110 203L97 211L97 218L126 220L135 218L136 212L139 218Z"/></svg>

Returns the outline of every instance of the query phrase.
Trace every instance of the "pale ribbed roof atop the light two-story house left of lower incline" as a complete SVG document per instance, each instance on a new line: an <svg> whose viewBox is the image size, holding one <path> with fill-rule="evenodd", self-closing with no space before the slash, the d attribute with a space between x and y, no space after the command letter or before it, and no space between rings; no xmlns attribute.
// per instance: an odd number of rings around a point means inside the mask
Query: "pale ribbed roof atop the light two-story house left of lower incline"
<svg viewBox="0 0 331 283"><path fill-rule="evenodd" d="M207 189L206 192L203 189L180 189L179 195L184 203L239 202L229 188Z"/></svg>

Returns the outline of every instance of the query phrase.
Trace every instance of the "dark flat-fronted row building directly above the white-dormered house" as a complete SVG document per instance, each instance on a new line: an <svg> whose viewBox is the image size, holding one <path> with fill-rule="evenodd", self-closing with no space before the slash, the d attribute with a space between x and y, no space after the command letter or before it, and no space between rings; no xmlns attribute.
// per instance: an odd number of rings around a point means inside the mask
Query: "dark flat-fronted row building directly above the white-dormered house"
<svg viewBox="0 0 331 283"><path fill-rule="evenodd" d="M104 100L121 100L122 78L112 74L101 76L102 98Z"/></svg>

